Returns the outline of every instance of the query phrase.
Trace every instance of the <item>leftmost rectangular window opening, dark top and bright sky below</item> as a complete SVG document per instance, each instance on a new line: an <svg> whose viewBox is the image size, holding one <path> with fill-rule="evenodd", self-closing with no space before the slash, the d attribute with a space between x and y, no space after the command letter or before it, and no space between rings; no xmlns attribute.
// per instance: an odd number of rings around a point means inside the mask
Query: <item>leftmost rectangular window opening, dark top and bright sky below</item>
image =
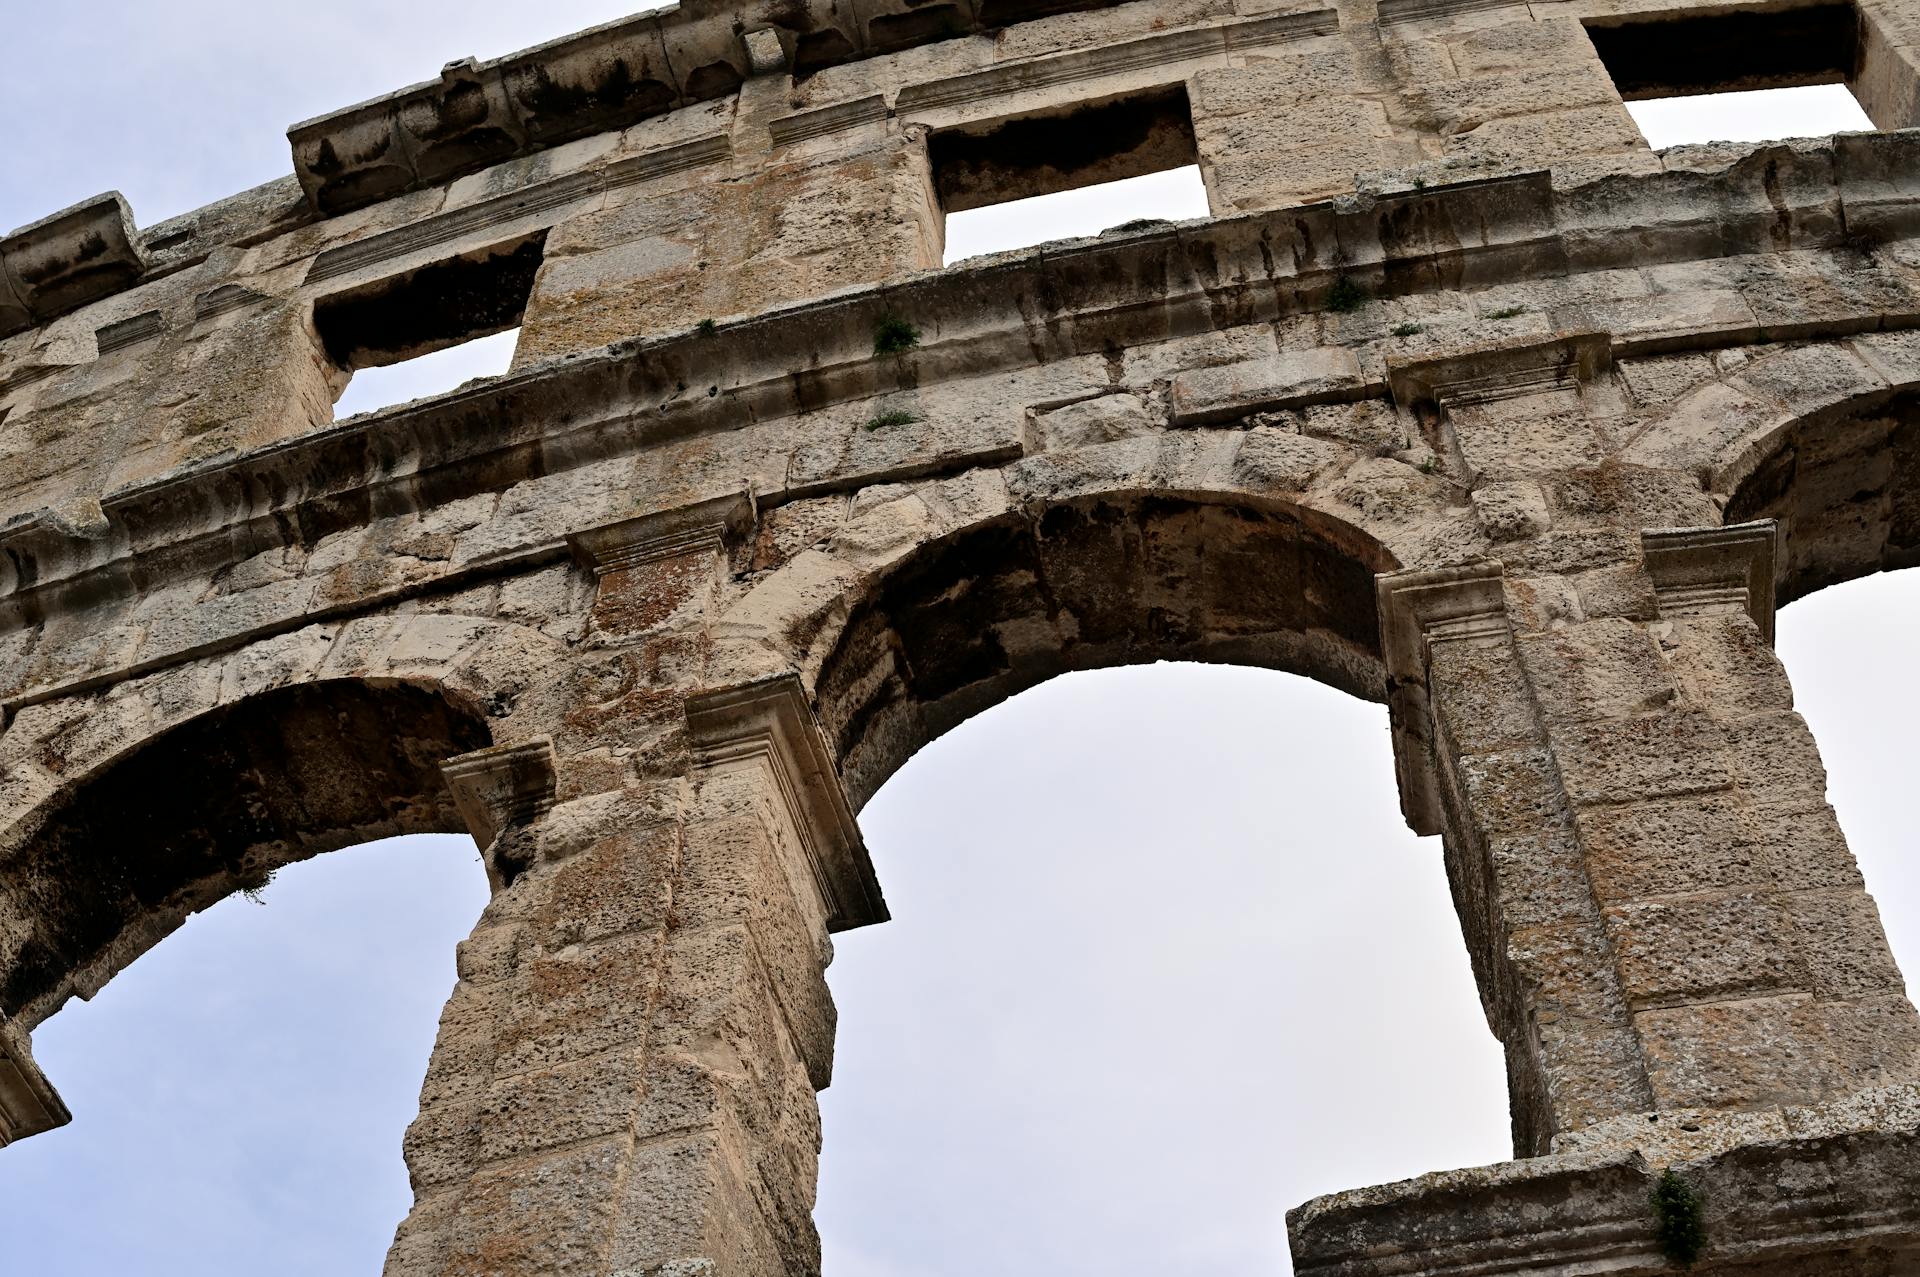
<svg viewBox="0 0 1920 1277"><path fill-rule="evenodd" d="M503 374L545 240L541 230L315 301L315 332L344 386L334 417Z"/></svg>

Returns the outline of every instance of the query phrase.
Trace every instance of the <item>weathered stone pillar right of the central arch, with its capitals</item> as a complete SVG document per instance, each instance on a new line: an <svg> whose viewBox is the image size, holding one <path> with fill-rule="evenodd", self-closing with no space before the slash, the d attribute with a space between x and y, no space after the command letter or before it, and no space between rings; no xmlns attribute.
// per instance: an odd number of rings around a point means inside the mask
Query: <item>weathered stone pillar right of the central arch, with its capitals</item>
<svg viewBox="0 0 1920 1277"><path fill-rule="evenodd" d="M1920 1020L1772 638L1772 526L1657 530L1626 614L1380 578L1407 816L1444 831L1515 1144L1920 1077Z"/></svg>

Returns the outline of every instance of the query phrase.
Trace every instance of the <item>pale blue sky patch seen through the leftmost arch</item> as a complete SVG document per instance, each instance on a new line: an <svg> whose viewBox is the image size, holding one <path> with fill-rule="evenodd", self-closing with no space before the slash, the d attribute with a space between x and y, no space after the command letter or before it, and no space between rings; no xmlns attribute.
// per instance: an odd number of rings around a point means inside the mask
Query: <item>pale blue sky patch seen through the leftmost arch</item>
<svg viewBox="0 0 1920 1277"><path fill-rule="evenodd" d="M75 1120L0 1150L10 1271L378 1273L455 941L486 899L467 835L340 849L40 1025Z"/></svg>

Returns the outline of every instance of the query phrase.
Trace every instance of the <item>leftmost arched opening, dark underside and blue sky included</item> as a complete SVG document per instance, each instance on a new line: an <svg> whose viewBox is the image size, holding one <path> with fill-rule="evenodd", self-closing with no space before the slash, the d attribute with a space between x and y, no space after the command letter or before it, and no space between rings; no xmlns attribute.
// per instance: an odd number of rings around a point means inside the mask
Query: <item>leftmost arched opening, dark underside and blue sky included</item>
<svg viewBox="0 0 1920 1277"><path fill-rule="evenodd" d="M56 1085L69 1085L61 1064L73 1068L75 1112L73 1125L0 1154L10 1204L65 1206L65 1217L23 1216L13 1244L44 1244L35 1271L48 1273L125 1269L129 1256L154 1273L209 1271L209 1256L238 1264L232 1271L338 1271L313 1246L298 1252L309 1233L378 1262L411 1200L399 1137L432 1010L453 983L451 941L486 897L440 764L486 747L486 720L432 686L324 680L236 699L108 760L88 757L88 720L113 709L75 720L77 757L60 757L61 735L40 745L35 762L73 780L0 835L0 1010L38 1027ZM459 837L438 839L438 858L424 862L374 847L275 878L323 851L422 833ZM457 874L445 872L449 845ZM415 872L396 874L405 868ZM205 916L142 964L125 997L48 1022L194 914ZM426 939L438 947L430 962ZM390 1024L394 1006L407 1010L405 1025ZM394 1072L396 1056L405 1072ZM367 1085L361 1066L382 1081ZM131 1096L150 1104L129 1112ZM332 1189L338 1210L317 1217L324 1208L296 1185ZM88 1223L111 1221L84 1244L71 1239L81 1202ZM36 1233L27 1219L52 1227ZM207 1219L230 1227L209 1231ZM363 1219L365 1235L353 1229ZM142 1237L136 1221L159 1231Z"/></svg>

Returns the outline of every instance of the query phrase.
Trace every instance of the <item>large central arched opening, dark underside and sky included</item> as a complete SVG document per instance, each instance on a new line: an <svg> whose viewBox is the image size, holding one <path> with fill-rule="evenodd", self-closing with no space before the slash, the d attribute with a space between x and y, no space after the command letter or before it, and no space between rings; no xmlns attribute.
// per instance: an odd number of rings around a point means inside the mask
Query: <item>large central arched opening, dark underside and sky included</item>
<svg viewBox="0 0 1920 1277"><path fill-rule="evenodd" d="M895 922L829 968L829 1273L1286 1271L1300 1200L1507 1154L1369 703L1392 566L1309 511L1117 494L851 609L818 712Z"/></svg>

